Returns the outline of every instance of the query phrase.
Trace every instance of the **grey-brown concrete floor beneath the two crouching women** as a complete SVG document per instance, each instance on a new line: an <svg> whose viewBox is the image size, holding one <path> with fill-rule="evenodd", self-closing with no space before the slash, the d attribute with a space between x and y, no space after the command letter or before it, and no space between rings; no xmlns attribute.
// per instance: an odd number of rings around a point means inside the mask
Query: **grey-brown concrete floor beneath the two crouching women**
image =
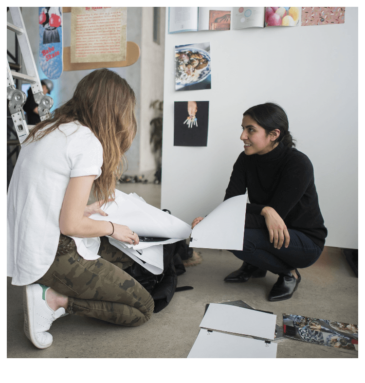
<svg viewBox="0 0 365 383"><path fill-rule="evenodd" d="M147 203L160 208L160 185L127 183L118 189L125 193L134 191ZM298 290L291 299L282 302L267 299L277 275L268 273L266 278L251 279L243 284L226 283L223 278L237 270L242 261L226 250L197 251L201 252L202 263L186 268L186 273L178 277L178 286L194 289L176 292L170 304L153 314L146 324L123 327L67 315L52 325L49 332L54 340L46 349L36 348L26 338L23 288L11 285L8 277L7 358L186 358L198 336L205 305L236 300L254 309L274 312L279 326L282 326L282 313L358 324L358 278L338 248L325 247L314 265L301 269ZM277 358L358 358L356 351L290 338L276 342Z"/></svg>

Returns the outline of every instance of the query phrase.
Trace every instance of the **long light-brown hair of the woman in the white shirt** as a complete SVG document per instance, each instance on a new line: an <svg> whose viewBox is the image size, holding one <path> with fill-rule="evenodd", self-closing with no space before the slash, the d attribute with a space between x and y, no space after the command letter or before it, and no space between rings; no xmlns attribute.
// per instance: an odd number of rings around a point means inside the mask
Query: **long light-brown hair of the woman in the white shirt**
<svg viewBox="0 0 365 383"><path fill-rule="evenodd" d="M106 203L115 197L116 182L126 163L125 152L137 132L135 104L135 93L124 78L109 69L95 70L77 84L71 100L38 123L23 143L40 140L72 121L90 128L103 146L102 173L94 181L93 196Z"/></svg>

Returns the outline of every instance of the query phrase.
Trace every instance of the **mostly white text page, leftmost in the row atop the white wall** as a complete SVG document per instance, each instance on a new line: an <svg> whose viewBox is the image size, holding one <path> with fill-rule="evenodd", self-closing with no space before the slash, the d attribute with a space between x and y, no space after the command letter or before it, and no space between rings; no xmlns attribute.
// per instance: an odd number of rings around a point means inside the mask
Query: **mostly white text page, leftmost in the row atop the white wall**
<svg viewBox="0 0 365 383"><path fill-rule="evenodd" d="M168 7L168 33L198 31L198 7Z"/></svg>

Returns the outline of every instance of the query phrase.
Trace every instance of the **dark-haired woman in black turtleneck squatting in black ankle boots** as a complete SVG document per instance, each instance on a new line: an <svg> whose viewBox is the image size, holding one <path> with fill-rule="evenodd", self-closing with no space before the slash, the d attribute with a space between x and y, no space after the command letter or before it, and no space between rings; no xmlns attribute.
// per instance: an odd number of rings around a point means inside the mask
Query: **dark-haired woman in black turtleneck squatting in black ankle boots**
<svg viewBox="0 0 365 383"><path fill-rule="evenodd" d="M321 255L327 229L318 204L310 159L294 148L285 111L274 103L243 113L244 151L233 166L224 200L248 192L243 260L226 282L278 274L269 300L292 297L301 276ZM192 227L201 221L194 219Z"/></svg>

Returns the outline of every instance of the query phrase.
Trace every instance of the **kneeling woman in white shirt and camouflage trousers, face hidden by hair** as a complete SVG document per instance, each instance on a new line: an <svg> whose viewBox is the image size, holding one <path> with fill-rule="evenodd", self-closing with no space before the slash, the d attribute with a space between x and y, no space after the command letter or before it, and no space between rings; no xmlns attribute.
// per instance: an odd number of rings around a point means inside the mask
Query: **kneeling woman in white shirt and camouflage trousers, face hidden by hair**
<svg viewBox="0 0 365 383"><path fill-rule="evenodd" d="M24 286L24 331L38 348L51 346L46 331L67 313L125 326L152 315L151 295L124 271L134 261L105 237L138 244L137 234L88 218L106 216L100 207L115 197L135 103L117 73L93 71L20 150L7 196L7 275ZM97 202L87 205L92 185Z"/></svg>

